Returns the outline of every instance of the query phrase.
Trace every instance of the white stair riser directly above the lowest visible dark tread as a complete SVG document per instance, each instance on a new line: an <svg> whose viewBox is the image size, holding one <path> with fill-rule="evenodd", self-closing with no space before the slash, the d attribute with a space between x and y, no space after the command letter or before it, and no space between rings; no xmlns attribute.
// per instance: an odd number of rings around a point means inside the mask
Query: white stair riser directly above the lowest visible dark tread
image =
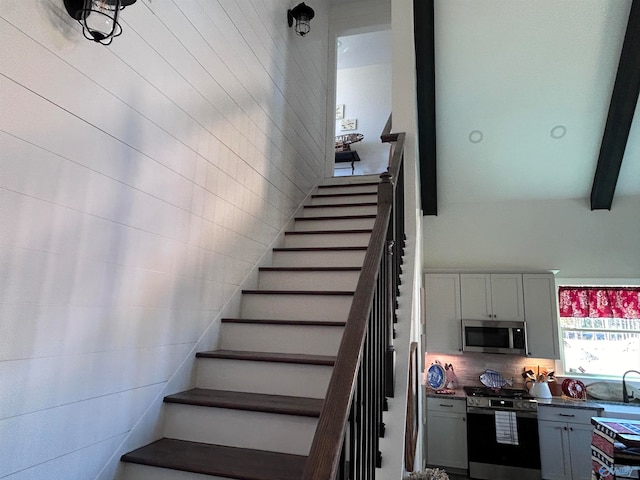
<svg viewBox="0 0 640 480"><path fill-rule="evenodd" d="M308 455L317 418L167 404L165 437Z"/></svg>

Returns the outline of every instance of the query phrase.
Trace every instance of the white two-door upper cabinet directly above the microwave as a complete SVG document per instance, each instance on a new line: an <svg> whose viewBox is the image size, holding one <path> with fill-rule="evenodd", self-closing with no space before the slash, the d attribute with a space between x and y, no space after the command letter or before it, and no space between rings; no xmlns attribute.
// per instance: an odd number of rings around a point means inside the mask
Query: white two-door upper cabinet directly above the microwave
<svg viewBox="0 0 640 480"><path fill-rule="evenodd" d="M460 274L460 293L464 319L524 321L519 273Z"/></svg>

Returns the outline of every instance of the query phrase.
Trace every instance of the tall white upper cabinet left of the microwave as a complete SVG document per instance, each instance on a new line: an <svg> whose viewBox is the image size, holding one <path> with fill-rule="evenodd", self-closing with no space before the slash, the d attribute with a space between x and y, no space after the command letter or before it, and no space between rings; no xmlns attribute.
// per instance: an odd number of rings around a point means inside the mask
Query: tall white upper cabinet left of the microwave
<svg viewBox="0 0 640 480"><path fill-rule="evenodd" d="M425 275L427 352L461 354L460 275Z"/></svg>

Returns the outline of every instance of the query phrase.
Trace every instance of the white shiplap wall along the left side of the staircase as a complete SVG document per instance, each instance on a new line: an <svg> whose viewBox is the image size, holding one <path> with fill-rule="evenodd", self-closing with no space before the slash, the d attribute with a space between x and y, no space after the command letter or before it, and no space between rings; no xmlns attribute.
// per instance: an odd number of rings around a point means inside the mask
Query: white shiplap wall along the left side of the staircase
<svg viewBox="0 0 640 480"><path fill-rule="evenodd" d="M326 7L139 0L102 47L1 5L0 478L106 479L324 171Z"/></svg>

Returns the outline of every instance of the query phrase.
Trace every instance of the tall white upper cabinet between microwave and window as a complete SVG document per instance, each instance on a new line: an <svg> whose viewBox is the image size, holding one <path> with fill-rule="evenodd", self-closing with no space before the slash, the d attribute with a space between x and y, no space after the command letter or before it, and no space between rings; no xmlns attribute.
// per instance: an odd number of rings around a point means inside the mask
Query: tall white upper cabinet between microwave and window
<svg viewBox="0 0 640 480"><path fill-rule="evenodd" d="M558 307L553 274L525 273L524 318L527 324L527 355L560 358Z"/></svg>

